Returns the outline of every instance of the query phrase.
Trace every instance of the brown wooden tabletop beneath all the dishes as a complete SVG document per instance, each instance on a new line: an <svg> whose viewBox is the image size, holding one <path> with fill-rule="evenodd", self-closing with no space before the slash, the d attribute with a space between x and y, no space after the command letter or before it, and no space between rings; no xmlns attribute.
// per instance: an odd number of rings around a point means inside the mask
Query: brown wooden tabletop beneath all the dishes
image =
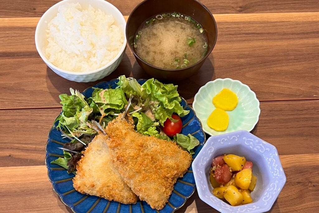
<svg viewBox="0 0 319 213"><path fill-rule="evenodd" d="M0 0L0 212L71 212L53 192L44 165L47 134L61 111L58 95L76 83L39 57L39 17L58 0ZM110 0L123 15L140 0ZM200 71L179 82L191 104L207 81L232 78L260 100L253 133L278 149L287 182L271 212L319 208L318 0L202 0L218 25L215 49ZM129 49L103 80L149 78ZM195 193L180 212L214 212Z"/></svg>

